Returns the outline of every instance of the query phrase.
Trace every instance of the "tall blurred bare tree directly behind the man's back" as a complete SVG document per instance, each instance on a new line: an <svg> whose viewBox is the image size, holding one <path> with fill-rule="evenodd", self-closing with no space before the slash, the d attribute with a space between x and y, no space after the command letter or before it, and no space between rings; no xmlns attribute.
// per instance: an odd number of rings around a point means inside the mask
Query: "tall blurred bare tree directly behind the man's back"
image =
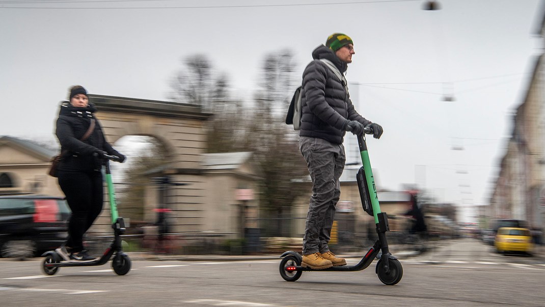
<svg viewBox="0 0 545 307"><path fill-rule="evenodd" d="M251 127L253 151L263 171L261 187L265 216L275 220L271 235L289 235L283 219L290 217L294 200L309 193L302 184L308 176L299 151L297 134L284 124L284 116L296 85L293 55L289 51L269 54L263 64L261 90L256 95L255 121Z"/></svg>

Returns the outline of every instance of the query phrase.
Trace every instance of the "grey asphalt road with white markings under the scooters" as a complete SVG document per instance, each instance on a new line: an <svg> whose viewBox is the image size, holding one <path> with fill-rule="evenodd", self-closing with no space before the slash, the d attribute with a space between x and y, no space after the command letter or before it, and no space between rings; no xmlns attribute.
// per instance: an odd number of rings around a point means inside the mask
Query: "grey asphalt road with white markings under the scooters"
<svg viewBox="0 0 545 307"><path fill-rule="evenodd" d="M396 254L396 250L392 250ZM125 276L110 263L60 268L41 259L0 260L1 306L543 306L545 262L503 256L476 240L442 242L419 256L399 253L403 279L383 285L374 263L361 272L304 272L284 281L278 260L148 261ZM356 258L348 259L358 262Z"/></svg>

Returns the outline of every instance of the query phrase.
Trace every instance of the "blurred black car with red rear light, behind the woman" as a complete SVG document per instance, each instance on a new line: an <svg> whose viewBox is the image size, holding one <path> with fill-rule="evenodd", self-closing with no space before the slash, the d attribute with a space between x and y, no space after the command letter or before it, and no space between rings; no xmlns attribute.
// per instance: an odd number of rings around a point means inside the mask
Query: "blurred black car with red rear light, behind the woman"
<svg viewBox="0 0 545 307"><path fill-rule="evenodd" d="M0 196L0 255L32 257L59 247L69 217L70 208L60 197Z"/></svg>

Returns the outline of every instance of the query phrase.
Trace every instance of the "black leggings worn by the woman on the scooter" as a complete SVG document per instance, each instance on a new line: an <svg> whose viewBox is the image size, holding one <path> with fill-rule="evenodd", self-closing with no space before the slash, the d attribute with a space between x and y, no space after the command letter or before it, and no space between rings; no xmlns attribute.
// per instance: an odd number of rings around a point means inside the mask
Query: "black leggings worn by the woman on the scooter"
<svg viewBox="0 0 545 307"><path fill-rule="evenodd" d="M89 230L102 211L104 200L102 173L59 171L58 180L72 211L66 246L77 253L83 250L83 234Z"/></svg>

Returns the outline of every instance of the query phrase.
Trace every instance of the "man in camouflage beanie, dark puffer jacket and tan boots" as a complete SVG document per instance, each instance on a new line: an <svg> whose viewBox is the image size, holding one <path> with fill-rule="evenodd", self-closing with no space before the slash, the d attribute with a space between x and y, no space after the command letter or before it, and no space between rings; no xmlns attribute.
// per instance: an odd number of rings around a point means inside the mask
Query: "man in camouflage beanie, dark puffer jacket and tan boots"
<svg viewBox="0 0 545 307"><path fill-rule="evenodd" d="M339 179L346 161L343 137L346 131L362 134L365 127L373 130L375 138L380 138L383 132L381 126L358 114L350 101L344 72L352 63L353 54L352 39L334 33L325 46L320 45L312 52L314 60L303 72L299 146L312 179L303 237L303 267L324 269L346 265L346 260L335 256L328 245L341 195ZM324 59L335 67L331 68Z"/></svg>

